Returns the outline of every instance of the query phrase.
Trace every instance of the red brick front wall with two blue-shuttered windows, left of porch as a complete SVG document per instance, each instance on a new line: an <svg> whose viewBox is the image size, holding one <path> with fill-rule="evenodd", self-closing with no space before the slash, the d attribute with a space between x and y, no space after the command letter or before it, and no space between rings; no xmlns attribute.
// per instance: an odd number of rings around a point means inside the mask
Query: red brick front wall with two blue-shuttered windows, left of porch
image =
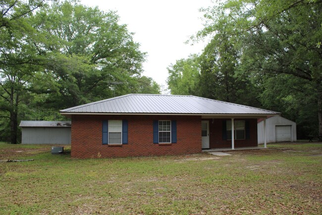
<svg viewBox="0 0 322 215"><path fill-rule="evenodd" d="M103 120L128 120L128 144L102 144ZM176 120L177 143L153 143L153 120ZM200 116L72 115L71 156L76 158L191 154L201 152Z"/></svg>

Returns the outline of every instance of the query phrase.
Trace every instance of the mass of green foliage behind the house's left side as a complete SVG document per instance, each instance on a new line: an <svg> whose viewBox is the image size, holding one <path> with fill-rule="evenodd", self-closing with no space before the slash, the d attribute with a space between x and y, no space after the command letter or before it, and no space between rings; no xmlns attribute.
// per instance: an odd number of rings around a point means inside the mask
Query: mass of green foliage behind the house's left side
<svg viewBox="0 0 322 215"><path fill-rule="evenodd" d="M0 140L16 143L20 120L64 119L59 110L114 94L160 93L141 75L146 53L118 20L77 0L0 1Z"/></svg>

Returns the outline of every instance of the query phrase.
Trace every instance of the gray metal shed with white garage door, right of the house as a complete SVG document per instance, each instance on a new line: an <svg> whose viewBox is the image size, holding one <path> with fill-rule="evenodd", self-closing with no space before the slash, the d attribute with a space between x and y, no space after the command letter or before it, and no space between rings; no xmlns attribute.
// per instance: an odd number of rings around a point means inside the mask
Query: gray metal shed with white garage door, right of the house
<svg viewBox="0 0 322 215"><path fill-rule="evenodd" d="M264 119L257 124L258 144L264 143ZM281 116L272 116L266 119L267 143L296 141L296 123Z"/></svg>

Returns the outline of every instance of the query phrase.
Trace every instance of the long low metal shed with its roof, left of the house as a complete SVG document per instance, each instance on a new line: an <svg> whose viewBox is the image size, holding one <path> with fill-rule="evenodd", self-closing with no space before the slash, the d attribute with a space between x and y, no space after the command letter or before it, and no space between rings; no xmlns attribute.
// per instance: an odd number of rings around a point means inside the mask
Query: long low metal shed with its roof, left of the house
<svg viewBox="0 0 322 215"><path fill-rule="evenodd" d="M23 144L70 144L70 121L21 121Z"/></svg>

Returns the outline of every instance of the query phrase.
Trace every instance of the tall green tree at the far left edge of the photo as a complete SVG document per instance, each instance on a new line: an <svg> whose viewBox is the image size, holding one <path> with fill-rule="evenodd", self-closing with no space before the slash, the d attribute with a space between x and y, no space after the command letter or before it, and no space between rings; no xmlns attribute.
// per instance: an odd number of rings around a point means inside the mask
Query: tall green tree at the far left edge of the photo
<svg viewBox="0 0 322 215"><path fill-rule="evenodd" d="M17 143L20 97L39 60L29 43L36 35L26 19L43 3L44 0L3 0L0 4L0 118L1 124L9 124L11 143Z"/></svg>

